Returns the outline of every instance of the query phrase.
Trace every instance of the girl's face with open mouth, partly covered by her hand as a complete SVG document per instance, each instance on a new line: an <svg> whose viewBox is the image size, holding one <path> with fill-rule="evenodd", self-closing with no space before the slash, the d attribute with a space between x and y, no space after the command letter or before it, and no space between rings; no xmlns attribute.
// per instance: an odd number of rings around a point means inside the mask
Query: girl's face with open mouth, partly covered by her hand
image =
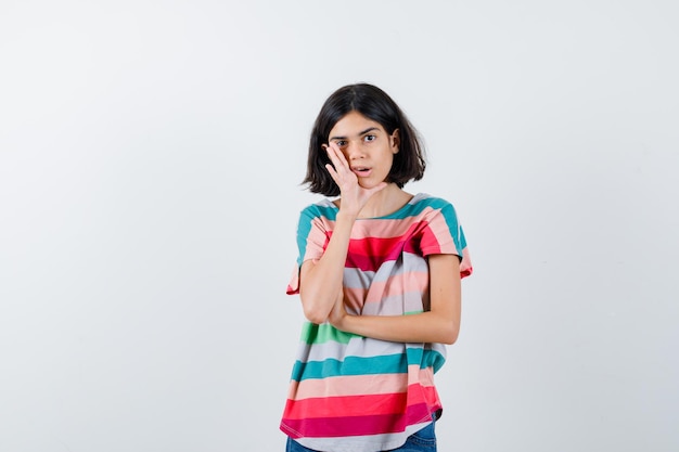
<svg viewBox="0 0 679 452"><path fill-rule="evenodd" d="M335 124L328 137L344 154L358 183L370 189L387 179L398 153L398 129L388 134L380 122L354 111Z"/></svg>

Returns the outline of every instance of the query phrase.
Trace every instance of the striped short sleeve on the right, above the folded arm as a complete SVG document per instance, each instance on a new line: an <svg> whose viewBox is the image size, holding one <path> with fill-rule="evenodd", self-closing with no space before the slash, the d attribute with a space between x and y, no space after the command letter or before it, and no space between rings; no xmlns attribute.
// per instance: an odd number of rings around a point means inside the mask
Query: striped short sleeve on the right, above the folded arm
<svg viewBox="0 0 679 452"><path fill-rule="evenodd" d="M426 227L420 237L422 256L457 255L460 258L460 276L471 275L473 268L466 238L454 207L444 202L427 212L425 221Z"/></svg>

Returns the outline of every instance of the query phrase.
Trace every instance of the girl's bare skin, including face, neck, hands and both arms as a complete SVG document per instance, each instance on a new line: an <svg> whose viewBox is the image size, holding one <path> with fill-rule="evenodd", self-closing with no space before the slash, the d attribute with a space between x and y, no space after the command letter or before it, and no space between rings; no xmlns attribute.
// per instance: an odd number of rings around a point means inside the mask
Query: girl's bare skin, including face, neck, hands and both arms
<svg viewBox="0 0 679 452"><path fill-rule="evenodd" d="M430 266L430 311L412 315L349 315L344 306L343 274L351 228L358 218L381 217L402 207L412 195L386 182L399 133L358 112L350 112L330 131L324 146L330 176L341 191L340 211L325 253L300 269L299 297L306 318L329 321L337 330L398 343L453 344L460 332L460 261L433 255ZM366 170L367 169L367 170Z"/></svg>

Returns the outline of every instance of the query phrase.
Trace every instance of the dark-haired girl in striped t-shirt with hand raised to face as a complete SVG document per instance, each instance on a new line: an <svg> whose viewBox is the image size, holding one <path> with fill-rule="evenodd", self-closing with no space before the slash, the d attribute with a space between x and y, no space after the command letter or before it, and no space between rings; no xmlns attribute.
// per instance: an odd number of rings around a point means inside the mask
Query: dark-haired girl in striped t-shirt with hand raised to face
<svg viewBox="0 0 679 452"><path fill-rule="evenodd" d="M366 83L323 104L287 294L307 318L281 429L289 452L435 451L434 373L460 330L472 273L452 205L402 190L424 173L418 133ZM337 197L338 196L338 197Z"/></svg>

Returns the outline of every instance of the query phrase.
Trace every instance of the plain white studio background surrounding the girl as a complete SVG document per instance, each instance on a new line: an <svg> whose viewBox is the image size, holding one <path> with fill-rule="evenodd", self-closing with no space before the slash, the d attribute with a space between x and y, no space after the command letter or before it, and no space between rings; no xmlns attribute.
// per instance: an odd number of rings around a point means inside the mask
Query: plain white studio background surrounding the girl
<svg viewBox="0 0 679 452"><path fill-rule="evenodd" d="M0 450L282 451L311 124L385 89L475 274L441 451L679 448L679 8L0 4Z"/></svg>

